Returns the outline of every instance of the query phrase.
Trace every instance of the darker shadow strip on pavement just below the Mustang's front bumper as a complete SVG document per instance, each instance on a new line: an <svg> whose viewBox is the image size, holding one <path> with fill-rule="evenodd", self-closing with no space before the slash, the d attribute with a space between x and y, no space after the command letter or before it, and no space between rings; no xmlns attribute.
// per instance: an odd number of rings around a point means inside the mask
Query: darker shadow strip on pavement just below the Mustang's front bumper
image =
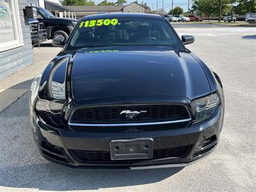
<svg viewBox="0 0 256 192"><path fill-rule="evenodd" d="M182 168L100 172L72 170L54 163L38 162L38 164L28 163L26 166L17 165L0 170L4 173L0 186L47 191L117 188L159 182L180 170Z"/></svg>

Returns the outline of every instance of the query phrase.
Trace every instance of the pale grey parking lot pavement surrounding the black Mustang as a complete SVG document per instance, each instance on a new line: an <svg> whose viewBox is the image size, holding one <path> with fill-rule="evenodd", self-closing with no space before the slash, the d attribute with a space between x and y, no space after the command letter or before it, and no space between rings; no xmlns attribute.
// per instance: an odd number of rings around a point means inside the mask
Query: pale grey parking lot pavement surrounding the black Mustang
<svg viewBox="0 0 256 192"><path fill-rule="evenodd" d="M26 92L0 112L0 191L256 191L256 28L172 25L179 35L195 35L187 47L223 83L225 123L211 156L185 168L125 172L50 163L34 145ZM49 44L35 48L35 61L44 68L58 51ZM30 82L24 82L24 90Z"/></svg>

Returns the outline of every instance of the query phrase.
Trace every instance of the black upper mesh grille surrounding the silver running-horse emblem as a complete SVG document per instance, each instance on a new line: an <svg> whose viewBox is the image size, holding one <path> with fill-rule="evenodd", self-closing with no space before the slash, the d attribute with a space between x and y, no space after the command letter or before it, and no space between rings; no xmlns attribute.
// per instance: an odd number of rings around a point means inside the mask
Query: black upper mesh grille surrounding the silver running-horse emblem
<svg viewBox="0 0 256 192"><path fill-rule="evenodd" d="M129 118L122 111L139 111ZM147 111L147 112L145 112ZM148 122L168 122L189 119L188 109L179 104L152 104L136 106L101 106L81 108L74 111L70 123L76 124L130 124Z"/></svg>

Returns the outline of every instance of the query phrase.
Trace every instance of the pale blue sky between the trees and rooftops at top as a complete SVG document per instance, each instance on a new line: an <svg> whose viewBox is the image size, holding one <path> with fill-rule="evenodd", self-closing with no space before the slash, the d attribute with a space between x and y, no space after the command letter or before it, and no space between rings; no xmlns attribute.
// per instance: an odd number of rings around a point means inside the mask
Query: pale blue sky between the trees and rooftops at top
<svg viewBox="0 0 256 192"><path fill-rule="evenodd" d="M103 0L94 0L95 4L100 3ZM111 2L116 2L116 0L108 0ZM127 0L127 3L132 3L135 0ZM138 0L138 3L147 3L147 6L150 6L151 10L156 10L156 4L157 4L157 0ZM180 6L183 8L183 10L185 12L188 11L188 1L189 1L189 5L191 7L192 1L191 0L173 0L173 8L175 8L175 6ZM154 4L154 6L153 6ZM158 8L162 8L163 6L163 0L158 0ZM164 11L169 12L172 9L172 0L164 0Z"/></svg>

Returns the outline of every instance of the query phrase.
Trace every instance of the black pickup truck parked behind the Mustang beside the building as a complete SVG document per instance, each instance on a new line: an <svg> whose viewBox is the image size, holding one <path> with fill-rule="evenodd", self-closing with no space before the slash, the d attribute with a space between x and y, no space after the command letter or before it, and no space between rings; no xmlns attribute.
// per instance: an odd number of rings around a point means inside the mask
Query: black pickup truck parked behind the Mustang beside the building
<svg viewBox="0 0 256 192"><path fill-rule="evenodd" d="M43 22L47 29L47 39L58 38L60 40L67 40L78 22L77 19L55 17L42 7L36 7L36 10L37 20Z"/></svg>

